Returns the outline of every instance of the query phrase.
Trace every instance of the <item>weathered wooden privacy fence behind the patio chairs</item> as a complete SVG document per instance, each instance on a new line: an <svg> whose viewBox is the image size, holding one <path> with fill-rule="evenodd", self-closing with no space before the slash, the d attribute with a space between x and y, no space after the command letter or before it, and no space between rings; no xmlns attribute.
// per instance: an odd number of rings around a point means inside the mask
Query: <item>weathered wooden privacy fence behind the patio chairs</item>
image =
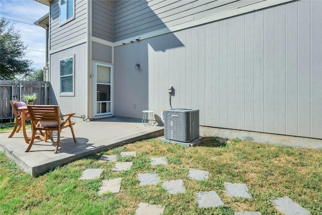
<svg viewBox="0 0 322 215"><path fill-rule="evenodd" d="M22 100L24 94L37 94L34 104L49 104L50 83L42 81L13 81L0 80L1 87L1 115L0 119L14 119L15 115L10 106L10 100ZM24 101L26 102L26 101ZM26 102L27 103L27 102Z"/></svg>

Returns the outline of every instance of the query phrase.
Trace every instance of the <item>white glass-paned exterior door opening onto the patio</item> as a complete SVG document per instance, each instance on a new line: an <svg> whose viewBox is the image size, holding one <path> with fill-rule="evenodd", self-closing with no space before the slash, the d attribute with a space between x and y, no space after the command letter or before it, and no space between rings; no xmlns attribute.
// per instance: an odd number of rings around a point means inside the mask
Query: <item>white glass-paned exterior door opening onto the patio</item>
<svg viewBox="0 0 322 215"><path fill-rule="evenodd" d="M113 115L113 65L94 62L94 70L94 115Z"/></svg>

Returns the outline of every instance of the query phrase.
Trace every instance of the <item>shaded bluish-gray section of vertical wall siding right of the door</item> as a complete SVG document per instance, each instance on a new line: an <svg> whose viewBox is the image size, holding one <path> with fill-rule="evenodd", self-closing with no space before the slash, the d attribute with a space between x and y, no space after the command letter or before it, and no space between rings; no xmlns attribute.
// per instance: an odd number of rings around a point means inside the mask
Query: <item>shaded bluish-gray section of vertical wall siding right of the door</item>
<svg viewBox="0 0 322 215"><path fill-rule="evenodd" d="M142 110L148 108L147 42L114 48L115 116L142 118ZM134 69L136 63L140 63L139 70Z"/></svg>

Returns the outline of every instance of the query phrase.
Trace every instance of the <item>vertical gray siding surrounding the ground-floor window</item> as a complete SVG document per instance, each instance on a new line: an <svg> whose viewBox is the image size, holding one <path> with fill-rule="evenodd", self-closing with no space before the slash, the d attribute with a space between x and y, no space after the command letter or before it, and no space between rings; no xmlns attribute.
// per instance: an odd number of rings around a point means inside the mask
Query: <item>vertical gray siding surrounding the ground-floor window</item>
<svg viewBox="0 0 322 215"><path fill-rule="evenodd" d="M75 96L59 96L59 59L74 55L74 94ZM87 44L74 46L50 55L50 84L52 87L51 104L58 104L62 113L75 113L74 116L87 115L88 100L88 56Z"/></svg>

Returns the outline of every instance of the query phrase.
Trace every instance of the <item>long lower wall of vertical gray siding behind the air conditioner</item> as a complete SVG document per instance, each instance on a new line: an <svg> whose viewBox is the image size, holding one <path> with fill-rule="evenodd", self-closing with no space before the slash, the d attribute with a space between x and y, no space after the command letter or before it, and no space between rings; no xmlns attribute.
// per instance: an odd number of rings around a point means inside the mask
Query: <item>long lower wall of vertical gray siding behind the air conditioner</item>
<svg viewBox="0 0 322 215"><path fill-rule="evenodd" d="M173 86L200 125L322 138L321 11L291 2L115 47L115 115L159 115Z"/></svg>

